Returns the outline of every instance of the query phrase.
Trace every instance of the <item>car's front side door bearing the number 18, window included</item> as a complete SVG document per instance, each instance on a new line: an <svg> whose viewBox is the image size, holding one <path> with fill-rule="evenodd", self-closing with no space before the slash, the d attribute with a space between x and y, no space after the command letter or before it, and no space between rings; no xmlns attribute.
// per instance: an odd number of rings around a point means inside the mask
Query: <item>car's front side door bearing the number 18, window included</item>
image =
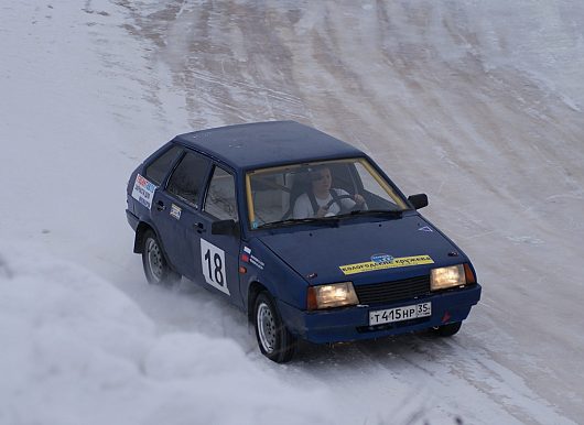
<svg viewBox="0 0 584 425"><path fill-rule="evenodd" d="M240 232L212 233L213 222L218 220L235 220L239 229L236 178L226 167L218 164L213 166L199 218L199 263L203 279L238 304L241 301L238 273Z"/></svg>

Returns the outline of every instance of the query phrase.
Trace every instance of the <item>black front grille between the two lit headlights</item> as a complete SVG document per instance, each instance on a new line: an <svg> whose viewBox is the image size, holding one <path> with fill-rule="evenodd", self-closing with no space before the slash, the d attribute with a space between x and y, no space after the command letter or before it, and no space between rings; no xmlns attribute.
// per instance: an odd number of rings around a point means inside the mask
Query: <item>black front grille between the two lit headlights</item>
<svg viewBox="0 0 584 425"><path fill-rule="evenodd" d="M382 304L414 298L430 293L430 276L355 286L360 304Z"/></svg>

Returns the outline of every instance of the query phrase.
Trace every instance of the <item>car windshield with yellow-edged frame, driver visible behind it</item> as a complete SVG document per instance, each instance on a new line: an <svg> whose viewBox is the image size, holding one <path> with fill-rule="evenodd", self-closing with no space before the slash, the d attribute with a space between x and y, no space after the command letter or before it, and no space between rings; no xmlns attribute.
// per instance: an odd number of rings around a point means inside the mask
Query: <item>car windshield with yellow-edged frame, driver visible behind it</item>
<svg viewBox="0 0 584 425"><path fill-rule="evenodd" d="M247 173L246 186L252 229L408 209L364 157L255 170Z"/></svg>

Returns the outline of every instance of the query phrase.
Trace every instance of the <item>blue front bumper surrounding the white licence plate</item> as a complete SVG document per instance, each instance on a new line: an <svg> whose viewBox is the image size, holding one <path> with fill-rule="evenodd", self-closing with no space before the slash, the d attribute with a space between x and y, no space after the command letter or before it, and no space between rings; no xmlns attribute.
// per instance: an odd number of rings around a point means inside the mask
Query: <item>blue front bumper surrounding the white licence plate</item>
<svg viewBox="0 0 584 425"><path fill-rule="evenodd" d="M480 299L480 285L453 290L375 306L355 306L329 310L305 312L279 302L280 313L291 333L311 342L340 342L407 334L448 323L462 322ZM432 303L432 316L369 326L369 312Z"/></svg>

